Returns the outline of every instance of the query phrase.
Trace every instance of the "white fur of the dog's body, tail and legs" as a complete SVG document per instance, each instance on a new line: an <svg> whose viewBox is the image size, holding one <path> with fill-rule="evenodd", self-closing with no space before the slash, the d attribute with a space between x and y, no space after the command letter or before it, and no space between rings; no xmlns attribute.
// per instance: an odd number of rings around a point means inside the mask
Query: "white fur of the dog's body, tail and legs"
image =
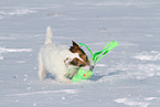
<svg viewBox="0 0 160 107"><path fill-rule="evenodd" d="M39 78L43 81L47 71L60 82L72 82L70 77L77 73L77 67L68 63L74 57L79 58L78 54L72 53L68 47L52 43L52 31L47 26L45 44L39 53ZM88 66L86 68L89 69Z"/></svg>

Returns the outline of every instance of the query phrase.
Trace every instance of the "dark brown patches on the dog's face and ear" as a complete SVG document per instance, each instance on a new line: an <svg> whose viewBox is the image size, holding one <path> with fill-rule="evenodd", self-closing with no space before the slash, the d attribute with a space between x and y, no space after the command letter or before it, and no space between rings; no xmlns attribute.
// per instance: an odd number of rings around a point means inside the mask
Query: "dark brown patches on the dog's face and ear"
<svg viewBox="0 0 160 107"><path fill-rule="evenodd" d="M86 65L90 65L89 60L86 55L86 53L78 46L78 44L76 44L74 41L73 42L73 46L71 46L70 51L72 53L78 53L79 57L84 61L78 60L77 57L73 58L73 61L71 62L72 65L75 66L79 66L79 67L84 67Z"/></svg>

